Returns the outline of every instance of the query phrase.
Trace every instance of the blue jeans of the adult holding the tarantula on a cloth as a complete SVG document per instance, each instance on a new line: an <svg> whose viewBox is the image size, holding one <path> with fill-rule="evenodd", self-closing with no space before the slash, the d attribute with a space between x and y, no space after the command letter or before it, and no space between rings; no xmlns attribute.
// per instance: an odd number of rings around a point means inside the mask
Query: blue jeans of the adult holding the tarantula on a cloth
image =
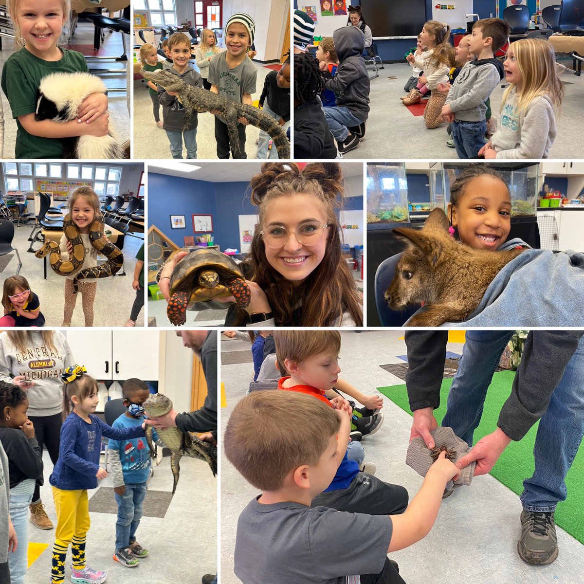
<svg viewBox="0 0 584 584"><path fill-rule="evenodd" d="M463 356L448 395L442 420L472 445L472 433L481 419L486 390L500 355L513 331L467 331ZM523 481L521 495L527 511L554 511L566 498L566 474L584 435L584 337L555 388L540 419L533 449L535 471Z"/></svg>

